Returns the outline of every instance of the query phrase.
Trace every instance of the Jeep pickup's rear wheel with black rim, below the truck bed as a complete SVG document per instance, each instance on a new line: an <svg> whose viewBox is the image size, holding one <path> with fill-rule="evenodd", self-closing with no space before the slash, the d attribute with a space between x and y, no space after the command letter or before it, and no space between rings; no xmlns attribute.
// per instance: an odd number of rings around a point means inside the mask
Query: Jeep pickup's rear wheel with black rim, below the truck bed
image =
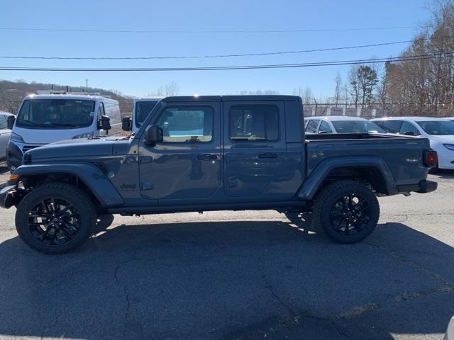
<svg viewBox="0 0 454 340"><path fill-rule="evenodd" d="M377 227L380 205L375 194L355 181L323 188L314 203L314 226L343 244L360 242Z"/></svg>

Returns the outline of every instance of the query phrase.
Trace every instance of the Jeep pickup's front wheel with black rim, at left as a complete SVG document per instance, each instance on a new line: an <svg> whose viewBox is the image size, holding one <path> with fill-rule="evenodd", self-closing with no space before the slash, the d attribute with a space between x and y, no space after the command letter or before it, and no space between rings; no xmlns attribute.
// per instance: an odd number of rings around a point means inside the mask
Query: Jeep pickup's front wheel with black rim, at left
<svg viewBox="0 0 454 340"><path fill-rule="evenodd" d="M16 229L23 242L46 254L67 253L82 245L95 222L93 201L67 183L35 188L16 210Z"/></svg>

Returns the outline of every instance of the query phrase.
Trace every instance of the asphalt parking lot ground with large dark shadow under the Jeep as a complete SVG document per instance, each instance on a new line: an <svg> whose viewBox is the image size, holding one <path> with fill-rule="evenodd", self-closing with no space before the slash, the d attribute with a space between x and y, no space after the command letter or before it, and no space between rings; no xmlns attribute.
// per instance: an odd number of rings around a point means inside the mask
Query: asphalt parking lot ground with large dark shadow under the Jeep
<svg viewBox="0 0 454 340"><path fill-rule="evenodd" d="M454 172L430 177L434 193L380 198L380 225L353 245L274 211L207 212L115 217L45 256L1 210L0 339L441 339Z"/></svg>

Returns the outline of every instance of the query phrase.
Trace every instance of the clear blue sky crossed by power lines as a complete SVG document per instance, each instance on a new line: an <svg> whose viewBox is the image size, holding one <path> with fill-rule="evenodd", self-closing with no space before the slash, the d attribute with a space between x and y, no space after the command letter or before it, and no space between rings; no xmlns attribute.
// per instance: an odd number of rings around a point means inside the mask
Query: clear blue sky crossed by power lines
<svg viewBox="0 0 454 340"><path fill-rule="evenodd" d="M382 1L7 1L0 28L84 30L297 30L418 26L428 18L426 0ZM118 1L120 2L120 1ZM416 28L318 33L67 33L0 30L0 55L57 57L147 57L305 50L411 40ZM199 67L356 60L397 55L406 45L330 52L213 60L45 61L4 60L15 67ZM175 81L180 94L237 94L310 86L333 96L334 77L348 66L211 72L16 72L0 79L117 89L143 96Z"/></svg>

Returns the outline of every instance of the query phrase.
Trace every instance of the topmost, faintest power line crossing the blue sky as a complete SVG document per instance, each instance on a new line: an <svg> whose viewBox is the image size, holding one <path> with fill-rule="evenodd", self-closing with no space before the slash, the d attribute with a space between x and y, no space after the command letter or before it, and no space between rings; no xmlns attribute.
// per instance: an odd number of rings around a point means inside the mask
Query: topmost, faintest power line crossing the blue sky
<svg viewBox="0 0 454 340"><path fill-rule="evenodd" d="M370 30L405 30L416 26L391 26L369 28L314 28L294 30L97 30L80 28L18 28L1 27L0 30L16 30L28 32L78 32L78 33L165 33L165 34L200 34L200 33L316 33L316 32L354 32Z"/></svg>

